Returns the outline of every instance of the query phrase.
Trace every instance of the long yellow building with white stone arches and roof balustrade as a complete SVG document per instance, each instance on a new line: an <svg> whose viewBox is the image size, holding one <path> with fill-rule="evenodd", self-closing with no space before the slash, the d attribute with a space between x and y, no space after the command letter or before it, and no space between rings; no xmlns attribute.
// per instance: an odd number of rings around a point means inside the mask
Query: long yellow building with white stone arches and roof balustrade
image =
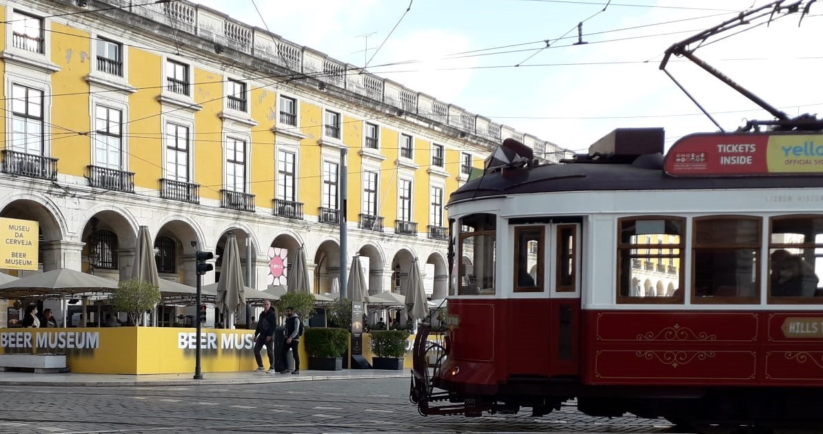
<svg viewBox="0 0 823 434"><path fill-rule="evenodd" d="M0 1L0 216L40 224L40 270L128 277L145 225L164 279L194 285L193 253L216 252L207 284L233 231L249 286L283 284L304 247L324 293L346 224L370 293L402 292L418 258L444 298L449 193L504 138L558 155L207 7L131 3Z"/></svg>

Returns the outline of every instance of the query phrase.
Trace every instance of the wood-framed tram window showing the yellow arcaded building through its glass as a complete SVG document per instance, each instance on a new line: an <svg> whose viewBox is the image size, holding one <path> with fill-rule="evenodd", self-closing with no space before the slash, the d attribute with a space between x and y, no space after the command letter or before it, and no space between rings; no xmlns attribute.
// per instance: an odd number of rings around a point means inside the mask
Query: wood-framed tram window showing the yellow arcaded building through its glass
<svg viewBox="0 0 823 434"><path fill-rule="evenodd" d="M683 302L686 219L627 217L617 226L617 302Z"/></svg>

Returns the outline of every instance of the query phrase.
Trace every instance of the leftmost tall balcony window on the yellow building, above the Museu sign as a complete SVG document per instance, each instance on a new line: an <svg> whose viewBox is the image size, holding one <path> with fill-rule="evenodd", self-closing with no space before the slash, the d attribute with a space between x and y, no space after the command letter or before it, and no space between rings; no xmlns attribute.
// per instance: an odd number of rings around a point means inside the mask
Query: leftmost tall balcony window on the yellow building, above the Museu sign
<svg viewBox="0 0 823 434"><path fill-rule="evenodd" d="M44 155L43 91L14 84L12 99L12 150Z"/></svg>

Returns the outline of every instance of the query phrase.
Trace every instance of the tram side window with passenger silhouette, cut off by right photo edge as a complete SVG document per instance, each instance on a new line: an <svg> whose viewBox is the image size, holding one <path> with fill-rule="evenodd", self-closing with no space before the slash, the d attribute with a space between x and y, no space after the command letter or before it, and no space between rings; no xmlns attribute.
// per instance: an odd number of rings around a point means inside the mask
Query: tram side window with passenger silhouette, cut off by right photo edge
<svg viewBox="0 0 823 434"><path fill-rule="evenodd" d="M823 217L771 219L769 302L823 302Z"/></svg>

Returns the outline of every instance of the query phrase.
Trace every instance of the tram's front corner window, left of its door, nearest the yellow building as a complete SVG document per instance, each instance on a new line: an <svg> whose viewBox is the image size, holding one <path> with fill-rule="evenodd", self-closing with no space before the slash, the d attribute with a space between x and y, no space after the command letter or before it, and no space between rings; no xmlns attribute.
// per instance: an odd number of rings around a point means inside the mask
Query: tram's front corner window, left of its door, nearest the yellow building
<svg viewBox="0 0 823 434"><path fill-rule="evenodd" d="M495 228L493 214L460 219L458 295L495 295Z"/></svg>

